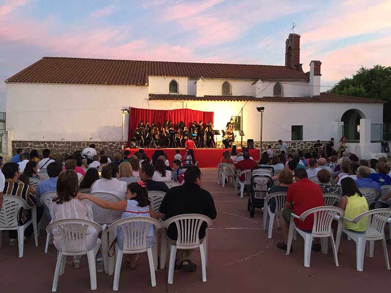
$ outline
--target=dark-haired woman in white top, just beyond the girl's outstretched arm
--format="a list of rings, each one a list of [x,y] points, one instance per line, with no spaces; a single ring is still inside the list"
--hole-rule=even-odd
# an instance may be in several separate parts
[[[119,168],[116,164],[110,163],[102,168],[102,179],[92,184],[91,192],[108,192],[115,194],[120,199],[125,199],[126,182],[119,181]]]

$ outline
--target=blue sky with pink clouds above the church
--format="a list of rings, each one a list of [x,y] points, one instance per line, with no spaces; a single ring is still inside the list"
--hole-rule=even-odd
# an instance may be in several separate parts
[[[304,71],[320,60],[332,85],[391,65],[390,13],[390,0],[0,0],[0,80],[43,56],[283,65],[294,21]]]

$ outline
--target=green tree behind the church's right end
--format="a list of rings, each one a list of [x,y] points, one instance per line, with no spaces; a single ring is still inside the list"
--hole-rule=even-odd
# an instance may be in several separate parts
[[[340,80],[327,93],[383,100],[383,121],[391,123],[391,67],[361,67],[351,78]]]

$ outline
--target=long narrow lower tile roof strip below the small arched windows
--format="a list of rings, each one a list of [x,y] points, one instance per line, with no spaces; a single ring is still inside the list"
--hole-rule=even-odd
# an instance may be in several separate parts
[[[150,94],[151,101],[249,101],[249,102],[271,102],[271,103],[384,103],[381,100],[373,100],[360,97],[321,93],[314,97],[262,97],[252,96],[204,96],[177,94]]]

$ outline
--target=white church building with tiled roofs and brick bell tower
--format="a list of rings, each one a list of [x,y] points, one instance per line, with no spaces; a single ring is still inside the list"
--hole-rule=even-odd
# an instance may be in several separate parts
[[[383,123],[383,101],[321,93],[322,63],[306,62],[304,73],[298,34],[286,40],[284,66],[43,57],[5,81],[8,145],[119,149],[121,109],[136,107],[213,111],[220,130],[234,117],[243,142],[259,146],[262,106],[263,147],[282,139],[296,150],[345,135],[351,152],[380,152],[371,124]]]

